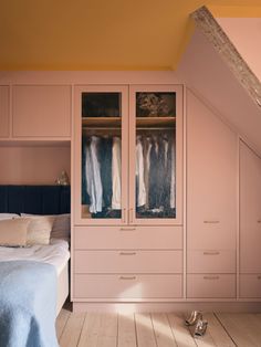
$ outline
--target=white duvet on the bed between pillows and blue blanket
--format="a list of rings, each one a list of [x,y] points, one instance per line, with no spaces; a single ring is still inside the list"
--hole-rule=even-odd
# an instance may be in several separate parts
[[[55,266],[58,274],[61,273],[69,259],[69,243],[60,239],[51,239],[48,245],[34,244],[28,248],[0,246],[0,262],[29,260],[49,263]]]

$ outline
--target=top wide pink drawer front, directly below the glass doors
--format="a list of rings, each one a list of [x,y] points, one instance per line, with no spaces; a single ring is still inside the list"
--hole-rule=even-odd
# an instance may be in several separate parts
[[[182,227],[74,227],[74,248],[181,249]]]

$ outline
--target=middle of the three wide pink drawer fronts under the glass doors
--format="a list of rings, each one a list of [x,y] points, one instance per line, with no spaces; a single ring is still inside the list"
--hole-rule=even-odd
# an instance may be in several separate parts
[[[181,273],[182,251],[75,251],[75,273]]]

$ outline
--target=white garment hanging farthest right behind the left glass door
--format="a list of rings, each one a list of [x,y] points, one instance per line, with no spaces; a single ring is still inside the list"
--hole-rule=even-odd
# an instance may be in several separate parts
[[[113,197],[112,209],[122,208],[122,141],[118,137],[113,137],[113,160],[112,160],[112,180]]]

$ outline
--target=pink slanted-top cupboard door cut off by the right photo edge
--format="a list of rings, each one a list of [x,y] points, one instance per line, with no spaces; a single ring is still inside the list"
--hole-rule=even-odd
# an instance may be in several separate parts
[[[261,158],[240,143],[240,273],[261,273]]]

